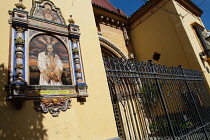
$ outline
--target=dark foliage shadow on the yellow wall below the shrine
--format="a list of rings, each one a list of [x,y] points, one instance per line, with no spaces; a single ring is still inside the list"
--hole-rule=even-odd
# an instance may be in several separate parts
[[[5,85],[8,84],[8,69],[0,64],[0,139],[2,140],[44,140],[47,130],[42,121],[43,114],[36,112],[33,100],[25,101],[23,109],[15,109],[6,101]]]

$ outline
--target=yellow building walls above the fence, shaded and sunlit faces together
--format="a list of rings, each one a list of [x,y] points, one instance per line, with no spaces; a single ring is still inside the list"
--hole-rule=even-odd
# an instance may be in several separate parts
[[[160,60],[153,62],[203,71],[210,83],[209,74],[199,57],[201,45],[191,27],[194,22],[203,25],[200,17],[175,0],[160,2],[131,25],[138,60],[152,59],[154,52],[158,52]],[[205,66],[208,64],[205,63]]]

